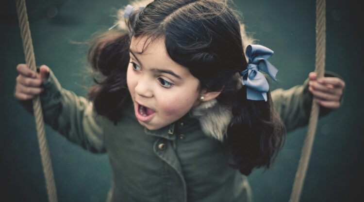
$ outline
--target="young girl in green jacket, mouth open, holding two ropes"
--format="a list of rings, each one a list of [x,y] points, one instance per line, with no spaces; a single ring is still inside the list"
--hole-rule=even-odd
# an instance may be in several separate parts
[[[249,202],[244,175],[268,168],[286,130],[307,124],[313,95],[320,116],[340,106],[342,79],[314,73],[270,93],[259,70],[275,80],[273,52],[247,46],[226,2],[155,0],[124,16],[128,31],[93,41],[89,61],[102,78],[88,99],[45,65],[35,74],[19,64],[15,89],[30,112],[40,94],[45,122],[68,140],[108,153],[110,202]]]

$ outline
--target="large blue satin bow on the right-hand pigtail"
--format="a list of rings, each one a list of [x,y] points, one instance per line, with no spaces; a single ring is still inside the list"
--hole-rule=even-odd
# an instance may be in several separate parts
[[[269,84],[259,70],[264,71],[278,82],[275,78],[278,69],[266,60],[273,55],[273,50],[261,45],[249,45],[245,54],[248,57],[248,68],[241,72],[241,77],[243,84],[248,87],[247,99],[267,101],[266,92],[269,90]],[[247,77],[245,77],[246,74],[248,74]]]

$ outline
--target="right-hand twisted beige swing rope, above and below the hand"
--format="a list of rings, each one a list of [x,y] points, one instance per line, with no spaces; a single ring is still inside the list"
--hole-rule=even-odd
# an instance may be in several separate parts
[[[317,78],[324,76],[325,72],[325,51],[326,51],[326,2],[325,0],[316,0],[316,55],[315,55],[315,72]],[[309,119],[306,138],[303,143],[301,158],[298,162],[295,182],[293,183],[291,198],[289,202],[298,202],[301,196],[303,182],[306,176],[309,164],[312,145],[314,143],[314,134],[318,121],[319,106],[314,98],[312,101],[311,116]]]

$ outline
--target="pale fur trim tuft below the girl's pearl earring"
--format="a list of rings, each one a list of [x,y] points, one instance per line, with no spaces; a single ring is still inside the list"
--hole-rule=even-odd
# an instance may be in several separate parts
[[[216,140],[223,141],[232,112],[226,106],[219,105],[216,99],[202,102],[192,110],[192,116],[199,119],[202,131]]]

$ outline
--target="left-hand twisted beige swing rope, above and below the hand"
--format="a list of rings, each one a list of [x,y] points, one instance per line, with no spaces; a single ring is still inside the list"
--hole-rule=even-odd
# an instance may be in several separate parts
[[[21,39],[23,41],[23,47],[25,53],[25,61],[27,65],[31,68],[31,70],[36,72],[34,50],[32,44],[32,37],[29,29],[25,0],[16,0],[16,4],[17,4],[17,16],[19,19],[19,27],[21,32]],[[48,143],[44,128],[43,113],[39,95],[35,96],[33,99],[33,110],[34,110],[35,124],[37,129],[40,156],[42,159],[43,171],[46,180],[48,200],[50,202],[57,202],[56,185],[54,182],[52,164],[50,161],[50,152],[48,149]]]

